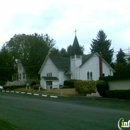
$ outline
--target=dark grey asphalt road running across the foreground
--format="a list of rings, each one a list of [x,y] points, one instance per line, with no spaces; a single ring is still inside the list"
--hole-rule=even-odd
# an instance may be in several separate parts
[[[130,119],[129,108],[122,109],[123,104],[109,108],[105,100],[98,103],[94,98],[52,99],[0,92],[0,120],[18,130],[118,130],[121,117]]]

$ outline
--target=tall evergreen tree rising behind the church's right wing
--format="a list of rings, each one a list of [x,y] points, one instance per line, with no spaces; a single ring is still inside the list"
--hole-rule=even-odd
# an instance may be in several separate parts
[[[91,43],[91,53],[102,53],[102,57],[108,62],[112,62],[113,49],[110,49],[111,40],[107,40],[107,35],[103,30],[99,30],[96,39],[92,40]]]

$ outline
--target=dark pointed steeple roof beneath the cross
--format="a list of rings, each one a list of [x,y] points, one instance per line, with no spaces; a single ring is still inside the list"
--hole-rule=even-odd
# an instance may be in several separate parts
[[[79,42],[77,37],[75,36],[73,46],[72,46],[72,51],[71,51],[71,56],[73,55],[82,55],[81,48],[79,46]]]

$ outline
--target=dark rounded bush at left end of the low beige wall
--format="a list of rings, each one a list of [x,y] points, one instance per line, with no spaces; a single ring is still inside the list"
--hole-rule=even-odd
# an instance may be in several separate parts
[[[100,96],[106,97],[106,91],[109,90],[108,83],[103,80],[100,80],[100,81],[97,81],[96,87]]]

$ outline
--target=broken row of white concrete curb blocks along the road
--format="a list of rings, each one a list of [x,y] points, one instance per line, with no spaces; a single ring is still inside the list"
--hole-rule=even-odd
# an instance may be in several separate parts
[[[1,92],[16,93],[16,94],[27,94],[27,95],[34,95],[34,96],[50,97],[50,98],[58,98],[58,96],[54,96],[54,95],[46,95],[46,94],[31,93],[31,92],[20,92],[20,91],[9,91],[9,90],[2,90]]]

